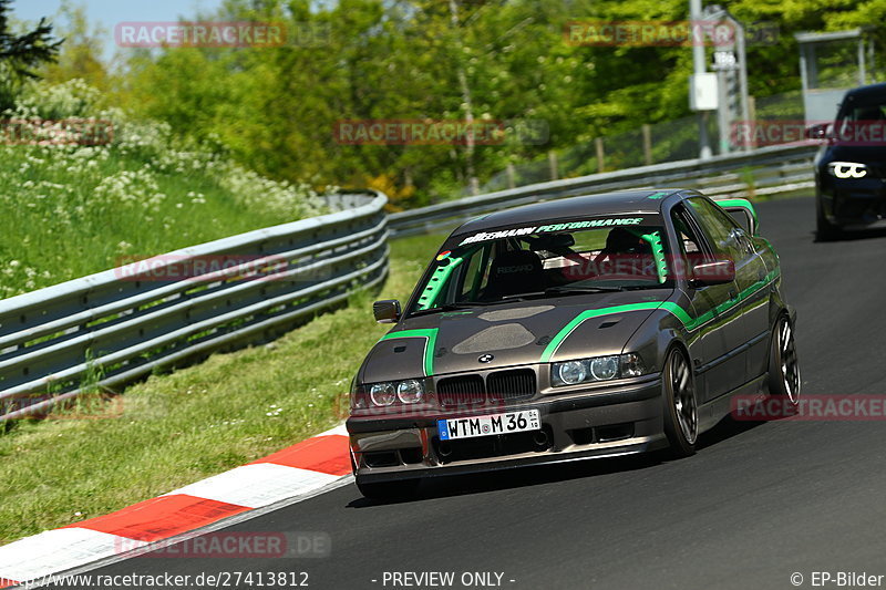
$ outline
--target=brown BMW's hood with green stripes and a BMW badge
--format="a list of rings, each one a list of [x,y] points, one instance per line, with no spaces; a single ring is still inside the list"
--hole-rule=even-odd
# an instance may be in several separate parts
[[[360,382],[619,354],[671,293],[568,296],[412,318],[370,351]]]

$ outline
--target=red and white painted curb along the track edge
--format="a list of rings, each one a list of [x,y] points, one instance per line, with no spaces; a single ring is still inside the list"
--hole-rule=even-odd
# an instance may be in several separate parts
[[[0,547],[0,588],[39,580],[225,518],[315,495],[351,473],[337,426],[258,460],[110,515]]]

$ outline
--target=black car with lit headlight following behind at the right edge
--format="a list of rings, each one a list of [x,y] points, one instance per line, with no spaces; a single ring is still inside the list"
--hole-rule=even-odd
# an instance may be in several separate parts
[[[815,157],[817,238],[886,227],[886,84],[847,92],[836,121],[810,137],[826,139]]]

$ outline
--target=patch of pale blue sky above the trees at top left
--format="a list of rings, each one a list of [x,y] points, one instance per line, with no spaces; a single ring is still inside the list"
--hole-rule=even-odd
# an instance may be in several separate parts
[[[114,25],[132,21],[176,21],[222,6],[223,0],[72,0],[74,6],[85,6],[90,25],[101,22],[107,30],[105,58],[114,53]],[[12,13],[19,20],[37,21],[53,17],[61,0],[16,0]],[[63,24],[63,23],[60,23]]]

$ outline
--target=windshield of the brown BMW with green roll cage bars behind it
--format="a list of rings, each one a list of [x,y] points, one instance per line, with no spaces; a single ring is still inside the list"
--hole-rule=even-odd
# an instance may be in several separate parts
[[[555,226],[542,226],[547,227]],[[666,232],[660,226],[522,236],[514,232],[480,234],[482,240],[476,236],[466,238],[451,250],[441,251],[420,286],[411,312],[559,294],[655,289],[667,287],[672,280]],[[499,234],[508,237],[483,239]]]

